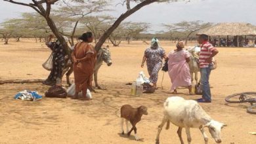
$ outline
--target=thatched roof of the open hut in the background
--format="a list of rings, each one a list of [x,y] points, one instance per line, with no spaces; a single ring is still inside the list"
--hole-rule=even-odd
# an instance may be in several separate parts
[[[197,35],[200,34],[210,36],[256,35],[256,27],[246,23],[220,23],[201,29]]]

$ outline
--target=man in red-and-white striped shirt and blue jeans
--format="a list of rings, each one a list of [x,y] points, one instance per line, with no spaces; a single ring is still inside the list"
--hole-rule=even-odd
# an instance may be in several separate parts
[[[203,96],[198,99],[200,103],[211,103],[211,90],[209,85],[209,76],[211,74],[211,63],[213,57],[219,53],[219,51],[208,42],[208,35],[199,35],[198,43],[201,45],[201,51],[199,53],[199,64],[201,71],[201,84]]]

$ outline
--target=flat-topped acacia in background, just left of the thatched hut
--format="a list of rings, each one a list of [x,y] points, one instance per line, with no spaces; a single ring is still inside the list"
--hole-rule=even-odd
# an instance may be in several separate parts
[[[212,26],[212,23],[210,22],[205,23],[200,20],[196,20],[192,22],[182,21],[176,24],[163,24],[163,26],[167,27],[167,29],[169,29],[169,32],[172,32],[172,31],[186,32],[187,31],[188,34],[186,35],[186,41],[185,41],[185,45],[187,45],[188,39],[192,33],[199,31],[200,29],[203,29],[205,27]]]

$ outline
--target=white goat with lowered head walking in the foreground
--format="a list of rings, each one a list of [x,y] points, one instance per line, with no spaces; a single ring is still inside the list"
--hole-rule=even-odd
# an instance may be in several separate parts
[[[208,137],[203,130],[205,127],[209,128],[209,132],[215,139],[216,143],[221,143],[221,129],[226,126],[226,124],[217,122],[209,117],[209,115],[203,111],[198,102],[194,100],[185,100],[178,96],[173,96],[166,99],[165,103],[163,103],[163,107],[164,117],[160,126],[158,126],[156,144],[160,143],[160,133],[166,122],[167,130],[169,129],[170,122],[176,126],[179,126],[177,133],[179,135],[181,144],[184,144],[184,141],[181,137],[182,128],[186,129],[188,144],[191,143],[190,128],[199,128],[203,134],[206,144],[208,142]]]

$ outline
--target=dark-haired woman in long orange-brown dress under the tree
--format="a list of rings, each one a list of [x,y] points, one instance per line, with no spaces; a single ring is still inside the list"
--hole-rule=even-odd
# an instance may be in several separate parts
[[[95,67],[96,51],[89,43],[93,42],[93,33],[83,33],[79,37],[81,42],[75,44],[72,52],[74,62],[74,77],[75,77],[75,96],[73,99],[78,99],[78,93],[82,91],[82,100],[90,100],[86,97],[87,88],[91,86],[93,77],[93,69]]]

